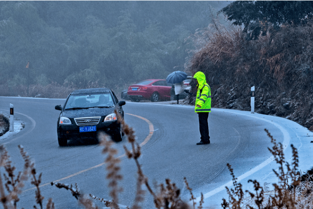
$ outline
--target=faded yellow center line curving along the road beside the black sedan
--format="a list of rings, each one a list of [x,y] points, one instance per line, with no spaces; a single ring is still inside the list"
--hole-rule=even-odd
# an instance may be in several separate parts
[[[136,116],[136,115],[129,114],[129,113],[126,113],[126,114],[127,114],[127,115],[130,115],[130,116],[138,117],[138,118],[140,118],[140,119],[143,119],[145,122],[148,123],[148,125],[149,125],[149,135],[148,135],[148,136],[144,139],[144,141],[141,142],[141,144],[140,144],[140,146],[144,146],[144,144],[146,144],[146,143],[150,140],[150,138],[152,137],[152,135],[153,135],[153,131],[154,131],[153,124],[152,124],[148,119],[146,119],[146,118],[144,118],[144,117],[142,117],[142,116]],[[122,154],[122,155],[120,155],[118,158],[122,158],[122,157],[124,157],[124,156],[126,156],[125,153]],[[104,164],[105,164],[105,163],[100,163],[100,164],[98,164],[98,165],[95,165],[95,166],[93,166],[93,167],[87,168],[87,169],[85,169],[85,170],[78,171],[77,173],[74,173],[74,174],[72,174],[72,175],[66,176],[66,177],[64,177],[64,178],[62,178],[62,179],[55,180],[55,181],[53,181],[53,182],[60,182],[60,181],[63,181],[63,180],[65,180],[65,179],[72,178],[72,177],[77,176],[77,175],[79,175],[79,174],[81,174],[81,173],[85,173],[85,172],[90,171],[90,170],[92,170],[92,169],[101,167],[101,166],[104,165]],[[44,184],[44,185],[40,185],[39,187],[47,186],[47,185],[50,185],[50,184],[51,184],[51,183],[46,183],[46,184]],[[26,189],[26,190],[24,190],[24,192],[29,191],[29,190],[33,190],[33,189],[36,189],[36,187]]]

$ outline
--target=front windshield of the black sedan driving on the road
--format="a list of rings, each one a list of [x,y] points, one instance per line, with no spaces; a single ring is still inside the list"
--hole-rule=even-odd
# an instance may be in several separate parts
[[[114,102],[110,93],[73,94],[65,104],[65,109],[84,109],[112,107]]]

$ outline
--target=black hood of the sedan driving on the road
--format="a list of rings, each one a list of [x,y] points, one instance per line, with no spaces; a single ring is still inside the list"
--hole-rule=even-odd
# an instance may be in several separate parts
[[[115,108],[89,108],[77,110],[64,110],[62,116],[69,118],[107,116],[111,113],[114,113],[114,110]]]

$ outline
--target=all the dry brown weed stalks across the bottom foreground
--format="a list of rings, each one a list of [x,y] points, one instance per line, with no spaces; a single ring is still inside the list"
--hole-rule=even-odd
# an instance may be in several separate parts
[[[122,124],[122,129],[128,142],[131,144],[131,150],[128,150],[124,146],[125,154],[129,159],[135,161],[138,174],[137,187],[134,188],[136,190],[134,204],[127,208],[142,209],[140,203],[144,201],[145,196],[142,186],[146,186],[147,191],[154,199],[156,209],[203,209],[203,195],[201,194],[201,201],[197,205],[194,202],[195,197],[193,196],[192,188],[189,187],[186,178],[184,178],[184,181],[191,195],[190,201],[193,201],[192,206],[181,199],[180,189],[169,179],[165,180],[165,184],[159,184],[156,188],[157,190],[153,191],[138,161],[141,156],[141,147],[135,140],[135,132],[121,119],[120,115],[118,115],[118,120]],[[270,191],[266,186],[264,188],[260,186],[257,180],[249,180],[248,182],[253,184],[254,190],[243,191],[241,183],[237,182],[231,165],[227,164],[233,178],[234,188],[226,187],[229,201],[223,199],[222,207],[224,209],[313,209],[313,168],[306,174],[300,175],[296,148],[291,145],[292,163],[289,164],[285,159],[282,144],[277,143],[268,131],[265,131],[273,144],[273,147],[268,148],[268,150],[278,164],[278,171],[273,170],[278,178],[278,184],[273,184],[274,190]],[[72,196],[85,209],[101,208],[96,206],[93,200],[102,203],[102,205],[110,209],[120,209],[118,195],[122,191],[122,187],[119,186],[122,176],[120,175],[120,159],[116,157],[118,151],[112,147],[114,142],[109,136],[101,134],[99,141],[100,145],[103,146],[102,153],[106,156],[104,162],[106,165],[105,169],[107,170],[106,178],[109,180],[107,187],[110,188],[112,200],[105,200],[92,194],[84,194],[78,189],[77,184],[72,186],[52,182],[51,186],[69,190]],[[31,184],[36,187],[34,198],[37,205],[33,206],[33,208],[37,209],[38,207],[43,209],[44,197],[40,192],[42,174],[38,177],[36,176],[34,163],[22,146],[19,146],[19,149],[24,160],[24,169],[16,175],[16,168],[11,165],[12,162],[10,161],[8,152],[3,145],[0,146],[0,168],[3,167],[5,171],[3,174],[0,172],[0,202],[3,209],[17,209],[18,202],[20,201],[19,195],[22,193],[24,182],[30,178]],[[289,184],[289,182],[291,183]],[[48,199],[46,209],[54,209],[54,203],[51,198]]]

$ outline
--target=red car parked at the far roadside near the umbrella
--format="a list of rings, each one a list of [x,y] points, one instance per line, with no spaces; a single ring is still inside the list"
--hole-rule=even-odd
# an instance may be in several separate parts
[[[149,79],[130,85],[127,96],[131,101],[139,102],[141,99],[149,99],[152,102],[170,100],[171,84],[166,80]]]

